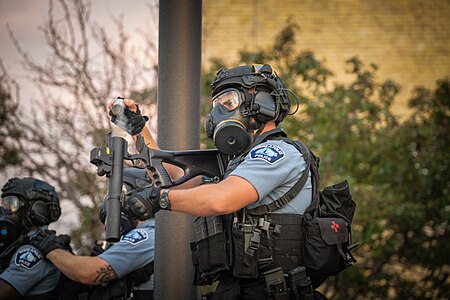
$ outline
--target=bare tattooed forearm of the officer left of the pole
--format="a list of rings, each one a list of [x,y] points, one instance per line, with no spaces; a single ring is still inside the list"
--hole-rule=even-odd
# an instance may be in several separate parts
[[[102,284],[117,278],[111,265],[97,256],[75,256],[56,249],[47,258],[67,277],[83,284]]]

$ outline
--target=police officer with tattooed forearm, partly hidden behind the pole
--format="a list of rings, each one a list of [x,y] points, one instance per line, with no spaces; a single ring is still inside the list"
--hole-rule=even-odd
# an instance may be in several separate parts
[[[125,168],[123,174],[125,192],[150,184],[145,170]],[[103,207],[99,215],[104,222]],[[95,256],[60,249],[57,236],[48,231],[40,231],[31,243],[68,278],[91,286],[75,299],[153,299],[154,237],[154,219],[136,221],[122,213],[120,241],[98,243]]]

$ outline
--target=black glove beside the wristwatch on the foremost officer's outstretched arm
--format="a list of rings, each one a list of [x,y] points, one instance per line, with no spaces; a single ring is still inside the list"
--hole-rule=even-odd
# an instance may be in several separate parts
[[[145,187],[132,190],[125,196],[123,210],[126,215],[141,221],[153,218],[160,210],[159,188]]]

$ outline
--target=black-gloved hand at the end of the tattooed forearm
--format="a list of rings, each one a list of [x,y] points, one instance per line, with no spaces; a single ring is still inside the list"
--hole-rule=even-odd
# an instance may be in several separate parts
[[[70,249],[70,237],[68,235],[56,235],[53,230],[39,230],[37,235],[31,238],[30,244],[36,247],[44,256],[55,249]]]

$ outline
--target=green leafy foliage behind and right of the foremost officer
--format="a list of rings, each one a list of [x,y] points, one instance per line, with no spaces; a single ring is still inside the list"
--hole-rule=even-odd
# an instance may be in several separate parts
[[[358,263],[322,291],[332,299],[447,299],[449,79],[434,91],[415,89],[411,117],[400,122],[390,111],[397,83],[380,81],[376,65],[354,57],[346,62],[350,82],[331,85],[322,61],[295,50],[296,30],[289,23],[272,47],[241,51],[239,64],[270,63],[278,71],[300,102],[282,127],[320,156],[322,187],[344,178],[351,184]],[[204,86],[215,72],[207,74]]]

